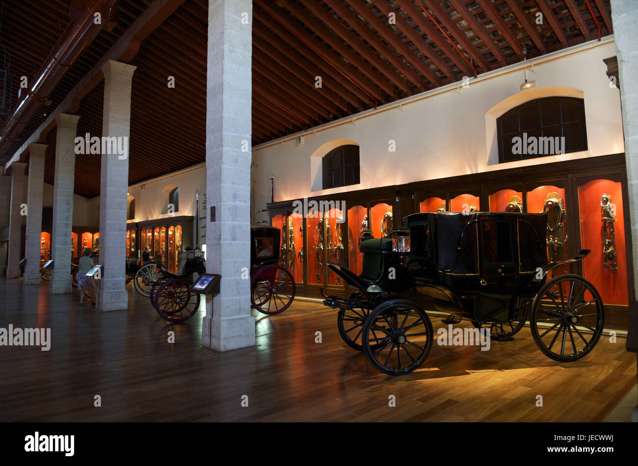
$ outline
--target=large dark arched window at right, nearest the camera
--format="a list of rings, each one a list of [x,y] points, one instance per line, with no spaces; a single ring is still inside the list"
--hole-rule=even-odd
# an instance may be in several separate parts
[[[545,97],[496,119],[499,163],[587,150],[583,99]]]

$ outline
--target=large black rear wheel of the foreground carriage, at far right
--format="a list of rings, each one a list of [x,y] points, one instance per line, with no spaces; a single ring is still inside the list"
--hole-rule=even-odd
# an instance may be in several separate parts
[[[589,353],[604,321],[598,291],[579,275],[549,280],[531,305],[531,336],[540,351],[556,361],[575,361]]]

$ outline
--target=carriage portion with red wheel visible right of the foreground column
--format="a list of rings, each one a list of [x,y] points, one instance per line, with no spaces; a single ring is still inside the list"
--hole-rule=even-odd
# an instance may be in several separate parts
[[[263,314],[279,314],[295,298],[295,280],[279,265],[291,251],[281,250],[281,230],[274,226],[251,226],[250,242],[251,305]]]

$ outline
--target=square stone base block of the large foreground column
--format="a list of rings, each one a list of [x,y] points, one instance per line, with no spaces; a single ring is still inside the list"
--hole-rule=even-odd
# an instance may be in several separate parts
[[[202,346],[216,351],[255,346],[255,317],[237,316],[202,319]]]

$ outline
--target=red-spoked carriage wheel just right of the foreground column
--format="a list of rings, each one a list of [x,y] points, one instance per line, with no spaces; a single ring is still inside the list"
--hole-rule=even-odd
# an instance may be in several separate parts
[[[295,280],[285,268],[267,265],[256,270],[250,290],[253,307],[272,316],[288,309],[295,299]]]

